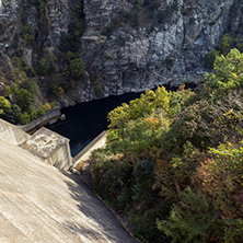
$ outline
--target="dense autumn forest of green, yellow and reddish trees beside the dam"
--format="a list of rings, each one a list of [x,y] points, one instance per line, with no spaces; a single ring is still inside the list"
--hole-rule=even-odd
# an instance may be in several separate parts
[[[243,242],[243,54],[195,91],[164,86],[108,114],[92,187],[141,242]]]

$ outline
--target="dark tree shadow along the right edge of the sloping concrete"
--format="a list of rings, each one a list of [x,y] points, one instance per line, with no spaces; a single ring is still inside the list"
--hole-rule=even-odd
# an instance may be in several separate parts
[[[63,227],[77,235],[93,239],[91,242],[137,243],[111,210],[92,193],[79,175],[61,173],[73,181],[66,181],[77,207],[88,220],[82,225],[65,222]],[[92,224],[92,227],[89,225]],[[85,227],[89,225],[89,227]]]

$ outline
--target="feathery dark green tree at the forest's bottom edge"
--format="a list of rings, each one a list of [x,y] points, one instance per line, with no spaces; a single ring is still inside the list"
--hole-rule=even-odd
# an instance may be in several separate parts
[[[206,243],[215,230],[215,217],[207,200],[195,194],[189,187],[181,193],[181,204],[174,205],[167,220],[158,220],[158,228],[172,243]]]

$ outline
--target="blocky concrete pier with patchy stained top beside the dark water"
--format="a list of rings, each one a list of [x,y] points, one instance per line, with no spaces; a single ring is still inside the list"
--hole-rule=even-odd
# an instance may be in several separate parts
[[[67,170],[72,164],[69,139],[47,128],[37,130],[22,147],[58,169]]]

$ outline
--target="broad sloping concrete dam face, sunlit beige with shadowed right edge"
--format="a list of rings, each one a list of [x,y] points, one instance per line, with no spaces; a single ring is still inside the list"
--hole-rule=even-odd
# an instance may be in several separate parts
[[[79,176],[0,141],[1,243],[135,243]]]

